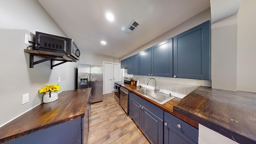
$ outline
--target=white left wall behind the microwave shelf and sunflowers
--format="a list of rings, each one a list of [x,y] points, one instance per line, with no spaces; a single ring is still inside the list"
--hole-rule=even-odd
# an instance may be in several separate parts
[[[50,61],[29,68],[24,53],[24,33],[36,31],[66,36],[37,0],[0,1],[0,126],[42,102],[38,90],[45,84],[58,83],[64,90],[74,89],[76,62],[67,62],[50,70]],[[42,59],[35,57],[35,60]],[[57,62],[56,62],[57,63]],[[22,94],[29,102],[22,105]]]

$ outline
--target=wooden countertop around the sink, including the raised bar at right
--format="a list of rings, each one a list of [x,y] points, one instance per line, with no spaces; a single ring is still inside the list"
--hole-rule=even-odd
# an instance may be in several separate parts
[[[241,144],[256,144],[256,93],[199,86],[184,98],[158,104],[122,85],[134,94],[198,128],[198,123]],[[143,88],[143,87],[142,87]]]

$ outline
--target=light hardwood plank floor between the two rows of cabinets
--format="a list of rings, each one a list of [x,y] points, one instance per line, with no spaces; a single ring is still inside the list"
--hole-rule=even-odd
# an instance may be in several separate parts
[[[92,104],[88,144],[150,144],[124,110],[114,93]]]

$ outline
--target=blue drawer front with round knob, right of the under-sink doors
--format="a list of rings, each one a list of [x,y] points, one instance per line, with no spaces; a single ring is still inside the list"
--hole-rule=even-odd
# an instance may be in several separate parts
[[[168,122],[171,126],[176,128],[176,130],[180,131],[182,134],[186,135],[188,138],[198,143],[198,129],[190,126],[186,122],[183,122],[182,120],[176,118],[168,112],[164,112],[164,120]],[[180,128],[178,127],[178,125],[180,125]]]

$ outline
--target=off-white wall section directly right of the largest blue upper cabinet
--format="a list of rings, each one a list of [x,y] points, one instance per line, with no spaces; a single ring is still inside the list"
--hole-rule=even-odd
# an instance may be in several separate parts
[[[237,15],[212,24],[212,88],[236,91]]]

